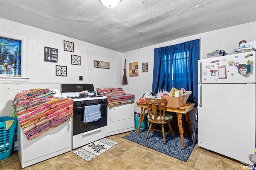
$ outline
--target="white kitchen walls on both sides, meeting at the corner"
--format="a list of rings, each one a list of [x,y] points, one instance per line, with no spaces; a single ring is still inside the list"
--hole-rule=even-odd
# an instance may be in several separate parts
[[[15,94],[18,89],[30,88],[60,88],[62,83],[90,83],[88,81],[88,51],[96,51],[97,53],[116,58],[116,87],[122,86],[122,76],[124,74],[124,59],[126,59],[126,76],[128,84],[122,86],[124,91],[128,94],[135,94],[135,102],[142,97],[146,92],[152,92],[152,72],[154,49],[158,47],[165,47],[168,45],[175,45],[178,43],[190,41],[193,39],[200,39],[201,42],[201,57],[206,58],[208,53],[216,49],[225,50],[227,52],[238,47],[241,40],[247,42],[256,41],[256,22],[237,25],[225,29],[184,37],[150,47],[129,51],[126,53],[119,53],[72,39],[63,35],[30,27],[13,21],[8,21],[0,18],[0,30],[9,31],[16,34],[25,35],[28,37],[28,82],[17,81],[2,81],[0,78],[0,116],[12,115],[13,107],[11,106]],[[63,50],[63,41],[74,42],[74,53]],[[58,49],[58,63],[44,62],[44,47],[52,47]],[[81,66],[71,64],[71,54],[81,56]],[[129,77],[128,64],[138,61],[139,76]],[[142,73],[142,63],[148,63],[148,72]],[[68,76],[55,76],[55,65],[63,65],[68,67]],[[78,76],[83,76],[83,81],[78,80]],[[98,75],[97,78],[102,79],[102,87],[104,77]],[[140,108],[134,105],[135,111],[140,112]]]

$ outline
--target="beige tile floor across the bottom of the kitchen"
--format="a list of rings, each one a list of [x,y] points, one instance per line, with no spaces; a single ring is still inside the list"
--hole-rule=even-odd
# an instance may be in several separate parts
[[[243,170],[243,164],[196,145],[187,162],[128,141],[130,132],[107,137],[118,145],[90,162],[72,151],[24,168],[24,170]],[[17,152],[0,160],[0,170],[21,170]]]

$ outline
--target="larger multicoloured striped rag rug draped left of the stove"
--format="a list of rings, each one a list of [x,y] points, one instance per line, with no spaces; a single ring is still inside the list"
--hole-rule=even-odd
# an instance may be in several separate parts
[[[19,92],[13,107],[28,140],[57,127],[73,115],[73,100],[56,98],[49,89]]]

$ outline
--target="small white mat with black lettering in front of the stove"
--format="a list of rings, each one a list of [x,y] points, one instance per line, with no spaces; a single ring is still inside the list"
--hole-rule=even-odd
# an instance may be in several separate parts
[[[84,160],[90,161],[100,154],[106,152],[108,149],[114,147],[117,142],[111,141],[110,139],[102,138],[98,141],[89,143],[88,145],[73,151],[74,154],[83,158]]]

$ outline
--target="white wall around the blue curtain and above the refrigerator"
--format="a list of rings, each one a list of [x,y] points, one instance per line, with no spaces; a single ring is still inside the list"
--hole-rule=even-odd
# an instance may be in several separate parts
[[[200,39],[202,59],[205,59],[208,53],[211,53],[217,49],[225,50],[229,53],[233,49],[239,47],[239,42],[241,40],[246,40],[247,42],[256,41],[256,22],[219,29],[190,37],[184,37],[123,53],[123,62],[124,59],[126,59],[126,66],[128,66],[129,63],[138,61],[139,68],[139,76],[129,77],[129,74],[127,74],[128,84],[123,86],[124,91],[126,93],[135,94],[136,102],[139,101],[144,93],[152,92],[154,49],[175,45],[194,39]],[[142,72],[142,63],[148,63],[148,72]],[[136,107],[136,104],[134,106],[134,111],[139,113],[140,108]],[[194,112],[191,111],[191,113]]]

